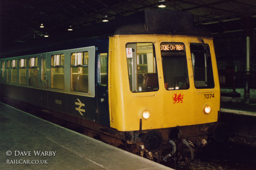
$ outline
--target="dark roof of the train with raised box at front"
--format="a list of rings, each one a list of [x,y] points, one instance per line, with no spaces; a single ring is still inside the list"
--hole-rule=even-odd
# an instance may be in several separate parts
[[[212,37],[211,33],[193,24],[190,12],[145,10],[109,22],[94,24],[65,35],[42,37],[35,42],[1,50],[2,58],[83,47],[85,39],[95,41],[114,35],[170,34]],[[90,39],[90,40],[89,40]]]

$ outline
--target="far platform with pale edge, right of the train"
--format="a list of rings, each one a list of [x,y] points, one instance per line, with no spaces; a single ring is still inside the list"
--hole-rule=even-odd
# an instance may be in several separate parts
[[[256,116],[256,100],[250,99],[249,104],[245,104],[243,100],[240,102],[221,101],[220,112]]]

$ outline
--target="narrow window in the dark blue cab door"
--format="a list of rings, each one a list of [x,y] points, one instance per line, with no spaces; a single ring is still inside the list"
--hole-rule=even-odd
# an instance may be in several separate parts
[[[106,86],[108,84],[108,53],[100,53],[98,61],[98,83]]]

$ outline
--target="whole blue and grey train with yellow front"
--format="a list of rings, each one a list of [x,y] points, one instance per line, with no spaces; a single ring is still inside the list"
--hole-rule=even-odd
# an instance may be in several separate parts
[[[145,10],[2,52],[1,99],[134,144],[141,156],[194,158],[228,137],[211,34],[189,12]]]

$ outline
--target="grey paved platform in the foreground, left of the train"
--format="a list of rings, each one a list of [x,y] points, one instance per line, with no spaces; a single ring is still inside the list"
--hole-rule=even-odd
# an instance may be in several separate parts
[[[0,131],[0,169],[171,169],[3,103]]]

